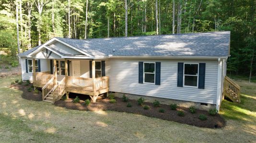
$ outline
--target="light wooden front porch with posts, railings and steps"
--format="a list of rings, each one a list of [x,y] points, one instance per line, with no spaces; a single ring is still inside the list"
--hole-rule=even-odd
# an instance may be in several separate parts
[[[90,61],[90,70],[92,72],[89,72],[91,72],[92,78],[69,76],[68,70],[70,70],[70,67],[68,62],[69,60],[65,59],[65,75],[59,75],[57,72],[61,71],[59,70],[60,68],[58,68],[59,63],[57,64],[56,59],[53,59],[52,71],[44,72],[35,72],[35,59],[33,59],[33,85],[34,87],[42,88],[43,101],[54,103],[60,100],[64,94],[69,98],[69,93],[73,92],[89,95],[92,102],[96,102],[99,94],[108,93],[109,77],[102,76],[95,78],[94,60]],[[51,74],[51,72],[53,74]]]

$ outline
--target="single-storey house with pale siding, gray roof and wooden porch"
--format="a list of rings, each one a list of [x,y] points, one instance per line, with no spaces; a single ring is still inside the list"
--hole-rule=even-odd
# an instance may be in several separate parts
[[[214,105],[219,110],[230,31],[96,39],[53,38],[19,56],[23,80],[43,100],[70,92],[121,92]],[[228,88],[231,85],[227,86]]]

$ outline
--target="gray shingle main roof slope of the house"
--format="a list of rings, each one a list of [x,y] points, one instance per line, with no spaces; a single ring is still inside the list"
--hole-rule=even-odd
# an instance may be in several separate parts
[[[58,39],[93,56],[229,56],[230,31],[86,40]]]

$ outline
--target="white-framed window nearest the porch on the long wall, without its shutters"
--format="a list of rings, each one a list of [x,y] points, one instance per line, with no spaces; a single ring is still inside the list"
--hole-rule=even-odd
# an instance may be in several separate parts
[[[144,82],[155,83],[155,63],[144,62]]]

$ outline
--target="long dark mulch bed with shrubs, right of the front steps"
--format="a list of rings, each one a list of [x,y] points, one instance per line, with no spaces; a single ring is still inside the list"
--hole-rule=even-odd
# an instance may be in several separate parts
[[[128,112],[141,114],[148,117],[159,118],[168,121],[174,121],[178,123],[186,123],[189,125],[194,125],[198,127],[206,127],[206,128],[221,128],[225,126],[225,120],[219,115],[210,116],[207,111],[197,110],[196,113],[192,114],[189,112],[187,108],[178,107],[177,111],[183,111],[185,113],[184,117],[180,117],[177,115],[177,111],[170,110],[169,105],[161,104],[160,107],[153,107],[153,104],[150,102],[145,102],[144,105],[150,106],[149,110],[144,110],[143,106],[138,105],[136,100],[128,100],[132,104],[132,107],[127,107],[128,102],[122,102],[121,98],[117,98],[116,103],[109,103],[108,98],[104,98],[103,96],[97,99],[97,102],[91,103],[90,105],[84,105],[84,101],[79,103],[73,103],[72,99],[68,100],[60,100],[55,102],[55,105],[60,107],[66,107],[68,109],[73,110],[85,110],[85,111],[98,111],[98,110],[111,110],[117,112]],[[160,113],[159,109],[163,108],[165,110],[164,113]],[[198,119],[200,114],[207,115],[206,121],[201,121]]]

